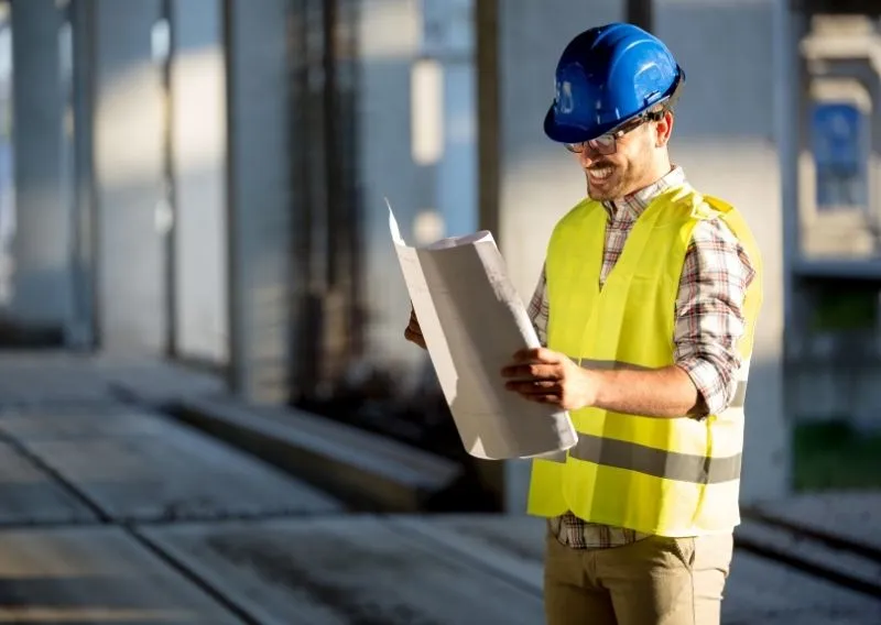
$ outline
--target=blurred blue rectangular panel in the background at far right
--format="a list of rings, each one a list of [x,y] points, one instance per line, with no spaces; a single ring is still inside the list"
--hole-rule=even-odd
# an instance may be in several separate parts
[[[862,113],[849,103],[814,106],[813,147],[818,169],[857,174],[864,163]]]

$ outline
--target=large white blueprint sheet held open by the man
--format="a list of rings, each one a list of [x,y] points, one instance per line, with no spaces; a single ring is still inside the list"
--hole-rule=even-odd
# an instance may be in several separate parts
[[[389,227],[428,354],[465,449],[502,460],[555,454],[575,445],[568,413],[504,387],[515,351],[539,347],[523,301],[487,231],[407,246]]]

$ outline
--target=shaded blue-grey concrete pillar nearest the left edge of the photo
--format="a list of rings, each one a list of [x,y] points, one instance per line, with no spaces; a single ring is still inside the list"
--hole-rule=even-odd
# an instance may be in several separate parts
[[[22,324],[66,330],[73,314],[72,196],[63,151],[62,22],[53,0],[13,6],[17,232],[11,311]]]

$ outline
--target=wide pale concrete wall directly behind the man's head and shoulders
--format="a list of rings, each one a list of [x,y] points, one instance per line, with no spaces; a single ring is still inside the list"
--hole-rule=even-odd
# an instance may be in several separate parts
[[[531,296],[556,220],[585,194],[584,176],[548,142],[542,120],[566,42],[581,30],[623,19],[620,2],[500,2],[500,233],[512,277]],[[688,84],[672,153],[705,193],[735,204],[763,252],[765,304],[758,327],[748,394],[746,501],[787,489],[787,435],[782,402],[782,199],[775,80],[781,14],[772,0],[728,0],[708,7],[655,2],[655,32],[684,66]],[[529,468],[508,467],[507,506],[525,505]]]

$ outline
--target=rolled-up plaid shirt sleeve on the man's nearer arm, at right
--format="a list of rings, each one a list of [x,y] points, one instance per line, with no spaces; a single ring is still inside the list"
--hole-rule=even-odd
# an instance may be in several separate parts
[[[698,223],[685,254],[673,338],[675,362],[703,399],[697,417],[731,403],[741,365],[743,300],[754,277],[746,250],[721,219]]]

